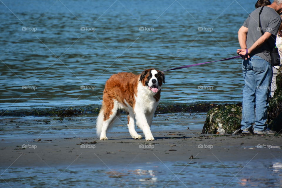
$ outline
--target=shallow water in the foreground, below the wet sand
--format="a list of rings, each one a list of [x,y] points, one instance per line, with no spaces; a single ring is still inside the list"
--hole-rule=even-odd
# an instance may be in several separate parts
[[[1,187],[281,187],[280,162],[0,168]]]

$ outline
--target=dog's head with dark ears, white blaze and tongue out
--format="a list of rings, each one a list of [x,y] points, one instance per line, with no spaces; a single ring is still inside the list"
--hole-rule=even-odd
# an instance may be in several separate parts
[[[161,89],[162,83],[165,83],[164,73],[154,68],[146,69],[141,73],[139,81],[153,93],[157,93]]]

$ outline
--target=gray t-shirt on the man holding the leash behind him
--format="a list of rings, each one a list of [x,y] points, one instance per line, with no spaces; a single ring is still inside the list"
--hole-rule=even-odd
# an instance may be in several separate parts
[[[243,26],[248,28],[247,34],[247,48],[250,48],[261,36],[262,33],[259,28],[259,12],[262,7],[255,9],[249,17],[245,20]],[[261,12],[261,28],[263,33],[271,33],[271,37],[264,42],[261,47],[257,48],[251,53],[251,56],[257,55],[264,60],[271,63],[270,51],[275,46],[276,34],[281,24],[281,17],[272,8],[265,6]]]

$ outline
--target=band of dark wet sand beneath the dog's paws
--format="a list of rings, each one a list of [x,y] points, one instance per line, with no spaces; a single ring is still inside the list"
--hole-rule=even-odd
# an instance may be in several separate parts
[[[281,160],[281,135],[203,135],[200,132],[191,129],[153,132],[154,141],[134,140],[125,132],[111,133],[109,140],[87,135],[64,138],[48,135],[41,140],[33,140],[34,136],[30,135],[6,137],[0,142],[0,167]],[[26,149],[22,148],[23,144]]]

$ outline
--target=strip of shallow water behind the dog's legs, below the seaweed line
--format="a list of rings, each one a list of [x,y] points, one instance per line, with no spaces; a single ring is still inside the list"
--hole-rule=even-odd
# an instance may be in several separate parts
[[[9,142],[9,139],[26,137],[31,138],[54,138],[65,137],[95,137],[95,123],[97,115],[82,115],[79,117],[65,117],[62,121],[58,117],[1,117],[0,136]],[[156,132],[154,136],[162,131],[181,132],[187,130],[202,130],[206,119],[206,113],[174,113],[155,115],[151,130]],[[12,122],[10,122],[12,121]],[[139,128],[136,131],[140,132]],[[128,133],[127,115],[120,116],[120,122],[113,126],[109,136],[119,133]],[[129,135],[128,135],[129,136]]]

